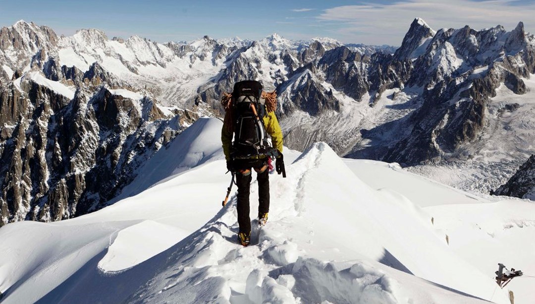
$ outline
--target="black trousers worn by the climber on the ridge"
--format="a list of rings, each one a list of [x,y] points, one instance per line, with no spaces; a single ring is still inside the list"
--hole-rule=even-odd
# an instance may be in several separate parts
[[[251,168],[257,173],[258,214],[269,212],[269,169],[266,159],[236,159],[234,167],[238,185],[238,224],[240,232],[249,234],[251,232],[249,190],[253,179]]]

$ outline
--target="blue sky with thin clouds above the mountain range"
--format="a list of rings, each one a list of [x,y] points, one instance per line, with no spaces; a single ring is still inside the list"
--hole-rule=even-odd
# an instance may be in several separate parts
[[[532,16],[535,0],[0,0],[0,26],[24,19],[48,25],[58,34],[98,28],[109,37],[138,35],[158,42],[203,35],[261,39],[278,33],[288,39],[328,36],[345,43],[400,45],[416,17],[435,30],[498,24],[513,29],[523,21],[533,33]]]

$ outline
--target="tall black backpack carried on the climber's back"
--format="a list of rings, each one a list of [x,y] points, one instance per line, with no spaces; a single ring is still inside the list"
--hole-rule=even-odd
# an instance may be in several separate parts
[[[272,155],[267,140],[263,117],[262,84],[244,80],[234,84],[232,92],[234,111],[234,157],[250,158],[255,155]]]

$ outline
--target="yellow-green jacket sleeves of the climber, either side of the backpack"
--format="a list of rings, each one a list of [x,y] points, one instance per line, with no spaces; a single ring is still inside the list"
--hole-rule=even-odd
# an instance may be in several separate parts
[[[227,127],[227,124],[232,123],[232,121],[230,121],[230,111],[231,110],[228,110],[225,113],[225,121],[223,124],[223,128],[221,129],[221,142],[223,143],[223,153],[225,153],[225,158],[227,161],[230,161],[231,159],[232,136],[234,135],[232,128]],[[282,153],[282,131],[280,130],[279,121],[277,120],[277,116],[275,116],[275,112],[268,112],[268,115],[264,116],[262,120],[264,121],[266,133],[271,136],[271,142],[273,143],[273,147]]]

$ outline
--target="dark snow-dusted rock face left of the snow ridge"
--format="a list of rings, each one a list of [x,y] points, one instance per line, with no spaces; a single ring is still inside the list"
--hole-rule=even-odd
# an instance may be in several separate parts
[[[73,100],[33,81],[0,100],[0,225],[58,221],[95,211],[197,117],[165,116],[144,98],[101,88]]]

